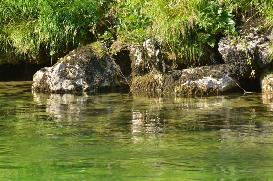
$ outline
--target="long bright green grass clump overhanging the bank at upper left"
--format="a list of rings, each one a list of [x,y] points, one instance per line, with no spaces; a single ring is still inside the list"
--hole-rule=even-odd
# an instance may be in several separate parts
[[[2,53],[36,59],[53,56],[88,39],[99,20],[102,3],[96,0],[3,0],[0,3]]]

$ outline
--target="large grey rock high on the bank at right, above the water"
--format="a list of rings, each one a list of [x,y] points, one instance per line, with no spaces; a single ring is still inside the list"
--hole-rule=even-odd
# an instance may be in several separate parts
[[[242,39],[245,39],[247,50],[252,57],[252,67],[255,75],[259,75],[262,67],[268,67],[271,61],[273,34],[271,30],[259,30],[257,25],[264,24],[263,20],[253,19],[241,24],[237,31]],[[223,37],[219,42],[219,52],[222,55],[229,71],[235,73],[239,78],[246,78],[251,75],[251,67],[247,65],[247,55],[243,50],[243,42],[237,42],[230,46],[232,40]],[[253,52],[253,54],[252,54]],[[254,56],[254,59],[253,59]]]

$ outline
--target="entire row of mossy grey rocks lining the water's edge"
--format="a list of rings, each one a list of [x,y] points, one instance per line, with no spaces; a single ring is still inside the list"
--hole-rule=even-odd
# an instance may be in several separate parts
[[[257,20],[256,20],[257,21]],[[131,46],[131,91],[166,94],[214,95],[235,89],[251,75],[248,55],[262,92],[273,93],[272,61],[273,34],[243,23],[237,27],[243,41],[222,37],[218,51],[224,63],[177,70],[169,52],[149,38],[142,46]],[[244,44],[247,47],[244,47]],[[122,61],[119,61],[122,62]],[[52,67],[40,69],[34,77],[33,91],[88,92],[120,87],[120,68],[99,42],[75,49]]]

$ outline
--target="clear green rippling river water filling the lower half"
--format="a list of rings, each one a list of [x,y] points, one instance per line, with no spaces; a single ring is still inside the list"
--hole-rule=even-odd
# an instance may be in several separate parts
[[[0,83],[0,180],[273,180],[273,95],[40,94]]]

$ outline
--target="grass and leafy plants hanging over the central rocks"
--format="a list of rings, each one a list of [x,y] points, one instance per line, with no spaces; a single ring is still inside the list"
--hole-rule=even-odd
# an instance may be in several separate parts
[[[115,27],[122,42],[141,45],[153,36],[180,63],[192,65],[206,59],[219,34],[235,31],[232,10],[218,1],[137,1],[120,6]]]

